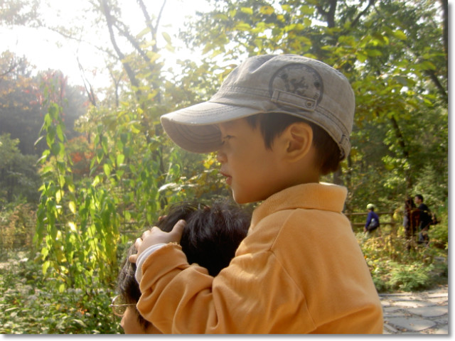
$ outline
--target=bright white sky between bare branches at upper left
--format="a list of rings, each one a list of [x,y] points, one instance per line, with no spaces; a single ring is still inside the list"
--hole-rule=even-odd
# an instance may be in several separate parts
[[[90,11],[84,9],[87,6],[87,1],[42,0],[41,2],[44,5],[42,13],[45,22],[49,24],[70,27],[73,22],[76,22],[78,24],[83,23],[85,28],[92,25],[93,16]],[[142,31],[144,20],[137,2],[134,0],[119,2],[125,5],[122,15],[132,33]],[[144,2],[148,6],[149,13],[159,13],[162,0]],[[46,6],[45,3],[49,3],[49,6]],[[205,0],[167,0],[161,18],[162,30],[173,36],[178,32],[178,28],[182,27],[186,16],[195,13],[196,9],[200,11],[206,6]],[[104,34],[93,34],[87,39],[111,46],[107,28]],[[159,33],[158,43],[160,46],[165,45],[161,33]],[[178,41],[173,40],[173,43],[178,44]],[[47,28],[0,27],[0,53],[4,50],[11,50],[19,56],[25,55],[28,62],[36,66],[37,71],[48,69],[63,71],[63,74],[68,76],[69,83],[73,85],[82,85],[77,64],[77,58],[79,58],[80,63],[87,70],[85,77],[95,88],[105,87],[109,84],[108,75],[102,72],[105,60],[101,53],[87,43],[75,43],[75,41],[66,40]],[[172,66],[178,55],[170,52],[164,53],[163,58],[166,65]],[[184,53],[185,57],[189,58],[190,52],[186,50]],[[197,53],[194,58],[198,58]]]

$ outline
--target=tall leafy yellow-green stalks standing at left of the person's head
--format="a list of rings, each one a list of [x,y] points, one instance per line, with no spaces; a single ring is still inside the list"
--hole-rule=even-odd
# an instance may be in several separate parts
[[[100,177],[75,191],[63,131],[60,107],[51,104],[43,124],[49,149],[40,159],[43,185],[33,241],[41,248],[43,273],[58,278],[60,292],[112,283],[119,241],[115,198],[96,188]],[[98,155],[102,157],[102,149]]]

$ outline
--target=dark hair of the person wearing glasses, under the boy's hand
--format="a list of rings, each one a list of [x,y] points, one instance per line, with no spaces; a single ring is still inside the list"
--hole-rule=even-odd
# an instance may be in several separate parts
[[[171,231],[178,220],[186,220],[181,247],[189,264],[199,264],[216,276],[229,265],[242,239],[247,236],[251,216],[237,205],[228,202],[214,202],[206,206],[194,202],[181,202],[172,205],[167,215],[156,223],[165,232]],[[136,264],[128,257],[136,254],[132,245],[122,264],[117,280],[117,288],[126,303],[137,303],[141,297],[139,283],[134,274]],[[136,310],[137,311],[137,310]],[[149,322],[137,311],[139,323],[145,328]]]

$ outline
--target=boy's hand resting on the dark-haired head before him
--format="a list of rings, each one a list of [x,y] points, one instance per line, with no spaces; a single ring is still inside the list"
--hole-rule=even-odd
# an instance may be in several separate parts
[[[136,242],[134,243],[134,247],[137,249],[137,254],[132,254],[129,256],[128,260],[131,263],[136,263],[139,254],[141,254],[141,252],[143,252],[148,247],[151,247],[152,245],[180,242],[185,225],[185,220],[178,220],[178,222],[176,222],[176,224],[173,226],[171,232],[161,231],[161,229],[156,226],[146,230],[146,232],[142,234],[142,237],[136,239]]]

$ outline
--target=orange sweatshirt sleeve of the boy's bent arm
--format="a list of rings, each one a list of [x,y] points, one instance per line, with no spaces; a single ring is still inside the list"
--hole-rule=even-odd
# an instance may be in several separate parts
[[[215,278],[167,244],[142,266],[141,315],[164,333],[311,332],[306,301],[272,251],[245,254]],[[303,316],[295,321],[296,314]],[[295,322],[294,322],[295,321]]]

